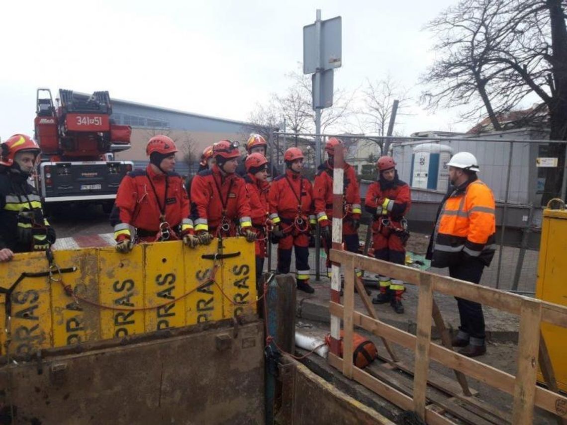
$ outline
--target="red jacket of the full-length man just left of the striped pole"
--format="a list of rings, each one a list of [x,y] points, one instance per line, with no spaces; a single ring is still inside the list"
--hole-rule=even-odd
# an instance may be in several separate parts
[[[268,193],[270,220],[278,224],[282,219],[289,222],[299,214],[309,216],[315,223],[313,213],[313,186],[305,177],[287,169],[285,174],[276,177]]]

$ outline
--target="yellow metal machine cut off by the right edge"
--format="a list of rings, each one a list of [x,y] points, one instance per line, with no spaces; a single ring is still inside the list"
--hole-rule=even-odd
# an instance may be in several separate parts
[[[567,305],[567,211],[565,204],[560,203],[560,210],[549,209],[548,204],[548,209],[543,211],[536,298]],[[567,329],[543,323],[541,333],[552,360],[557,386],[567,392]],[[541,372],[538,380],[545,382]]]

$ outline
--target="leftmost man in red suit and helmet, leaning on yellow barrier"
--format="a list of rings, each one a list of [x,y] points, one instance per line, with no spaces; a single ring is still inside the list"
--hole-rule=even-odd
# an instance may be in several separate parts
[[[183,179],[174,172],[176,152],[169,137],[152,137],[146,146],[150,157],[146,169],[122,179],[111,214],[117,251],[129,252],[136,242],[176,239],[196,246],[189,197]]]

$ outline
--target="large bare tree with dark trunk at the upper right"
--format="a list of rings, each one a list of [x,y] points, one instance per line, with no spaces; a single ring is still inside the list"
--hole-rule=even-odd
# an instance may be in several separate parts
[[[567,139],[567,28],[565,0],[462,0],[426,28],[437,34],[439,58],[423,76],[429,107],[462,105],[465,118],[499,117],[528,95],[549,109],[551,139]],[[545,181],[543,202],[557,196],[565,145],[553,145],[559,171]]]

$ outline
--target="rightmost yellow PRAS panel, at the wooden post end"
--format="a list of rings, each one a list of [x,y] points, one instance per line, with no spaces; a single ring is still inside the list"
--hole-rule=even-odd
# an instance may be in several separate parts
[[[222,260],[223,317],[230,318],[256,312],[256,259],[254,244],[244,237],[223,241],[223,253],[239,256]],[[235,305],[242,304],[242,305]]]

